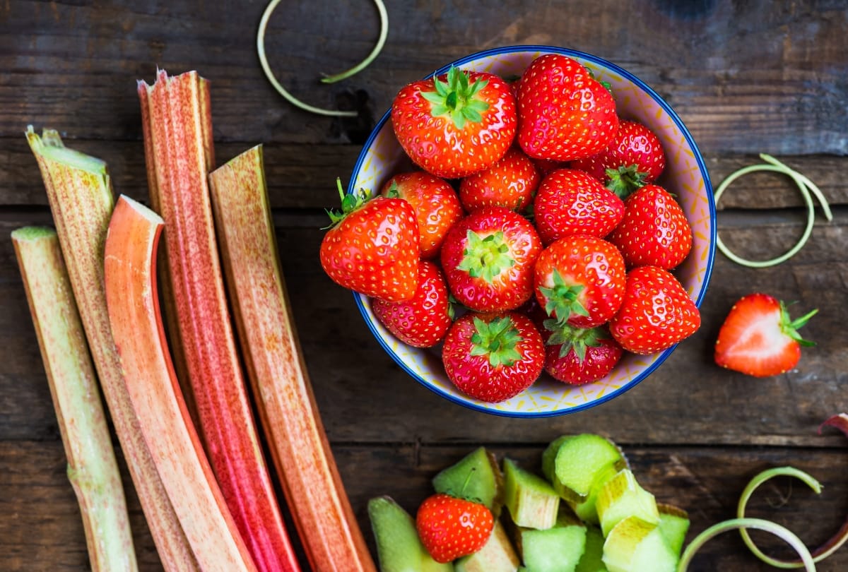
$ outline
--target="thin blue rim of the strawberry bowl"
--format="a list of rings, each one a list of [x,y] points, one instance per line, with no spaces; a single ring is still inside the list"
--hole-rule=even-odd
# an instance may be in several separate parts
[[[715,225],[715,220],[717,218],[716,217],[716,202],[715,202],[715,199],[713,198],[713,194],[712,194],[712,183],[711,183],[711,180],[710,180],[710,174],[706,169],[706,163],[704,162],[704,158],[700,153],[700,148],[695,143],[695,139],[689,133],[689,130],[686,128],[686,125],[683,125],[683,120],[680,119],[677,112],[674,111],[672,106],[669,105],[665,101],[665,99],[660,97],[660,95],[656,91],[654,91],[653,88],[648,86],[646,83],[644,83],[644,81],[640,80],[637,76],[630,73],[627,69],[623,69],[623,68],[619,67],[618,65],[613,64],[613,63],[605,60],[604,58],[599,58],[598,56],[594,56],[590,53],[580,52],[579,50],[574,50],[574,49],[567,48],[567,47],[545,46],[545,45],[541,45],[541,44],[493,47],[493,48],[490,48],[490,49],[487,49],[487,50],[483,50],[481,52],[471,53],[470,55],[467,55],[463,58],[457,59],[454,62],[451,62],[450,64],[446,64],[446,65],[442,66],[441,68],[435,70],[431,74],[426,75],[424,77],[424,79],[430,78],[433,75],[444,74],[445,72],[448,71],[448,69],[450,69],[451,66],[460,66],[462,64],[467,64],[468,62],[475,60],[475,59],[478,59],[478,58],[485,58],[485,57],[489,57],[489,56],[494,56],[494,55],[498,55],[500,53],[514,53],[514,52],[560,53],[560,54],[568,56],[570,58],[580,58],[580,59],[583,59],[585,61],[590,61],[590,62],[593,62],[594,64],[598,64],[601,67],[604,67],[606,69],[611,69],[616,74],[622,75],[623,77],[627,78],[628,81],[632,81],[633,84],[639,86],[639,89],[642,89],[644,92],[648,93],[650,95],[650,97],[661,108],[663,108],[663,110],[665,110],[665,112],[668,114],[668,116],[672,118],[672,121],[674,121],[674,124],[678,126],[678,129],[683,134],[683,138],[689,144],[689,147],[691,147],[692,150],[695,152],[695,161],[697,162],[698,169],[700,170],[700,174],[704,179],[705,190],[706,190],[706,193],[707,193],[707,203],[708,203],[709,208],[710,208],[710,219],[713,221],[713,224],[711,225],[710,247],[709,247],[709,253],[708,253],[708,256],[707,256],[706,271],[704,273],[704,282],[703,282],[703,286],[700,289],[700,292],[698,293],[698,297],[695,299],[695,305],[698,308],[700,308],[700,305],[704,300],[704,296],[706,295],[707,287],[710,285],[710,280],[712,278],[712,267],[713,267],[713,264],[715,262],[715,256],[716,256],[716,236],[717,236],[717,228],[716,228],[716,225]],[[348,182],[347,192],[350,193],[350,192],[355,191],[354,183],[356,181],[356,175],[360,172],[360,169],[362,167],[362,163],[365,161],[365,155],[368,152],[368,149],[371,147],[371,144],[374,142],[374,139],[377,138],[377,134],[380,131],[382,131],[383,126],[386,125],[386,122],[390,118],[391,113],[392,113],[392,110],[391,110],[391,108],[389,108],[388,111],[385,114],[382,115],[382,118],[380,118],[380,120],[377,121],[377,125],[374,126],[374,129],[371,131],[371,135],[368,136],[368,139],[365,141],[365,144],[362,146],[362,150],[360,151],[359,157],[356,158],[356,163],[354,164],[354,169],[351,172],[351,177],[350,177],[350,180]],[[364,295],[362,295],[360,293],[354,292],[354,302],[356,303],[357,308],[359,308],[360,314],[362,315],[362,317],[364,319],[365,319],[365,303],[366,303],[366,300],[367,300],[367,297],[365,297]],[[677,344],[675,344],[672,347],[668,347],[666,350],[663,350],[663,352],[659,355],[659,357],[657,357],[654,360],[654,362],[652,364],[650,364],[650,366],[648,366],[641,373],[639,373],[639,375],[637,375],[635,378],[633,378],[633,380],[628,381],[628,383],[619,387],[615,391],[610,392],[608,394],[605,394],[604,397],[599,397],[598,399],[595,399],[592,402],[582,403],[582,404],[576,405],[572,408],[558,409],[558,410],[555,410],[555,411],[540,411],[540,412],[504,411],[504,410],[495,409],[495,408],[488,408],[485,405],[480,404],[480,403],[473,403],[473,402],[465,401],[460,397],[456,397],[454,395],[451,395],[450,393],[444,392],[443,390],[439,389],[438,387],[433,386],[430,383],[427,383],[425,380],[421,380],[421,378],[418,375],[416,375],[416,373],[414,371],[412,371],[412,369],[410,369],[410,367],[407,364],[405,364],[404,361],[402,359],[400,359],[399,356],[396,353],[393,352],[392,348],[389,347],[388,344],[385,341],[383,341],[382,336],[380,336],[378,334],[377,329],[371,323],[371,321],[368,320],[368,319],[365,319],[365,324],[368,325],[368,329],[371,330],[371,335],[373,335],[377,339],[377,342],[380,343],[383,350],[393,358],[395,363],[398,364],[400,366],[400,368],[403,369],[407,373],[407,375],[410,375],[410,377],[412,379],[416,380],[419,384],[421,384],[421,386],[427,387],[428,390],[430,390],[433,393],[436,393],[438,396],[444,397],[448,401],[453,402],[453,403],[457,403],[458,405],[461,405],[464,408],[469,408],[469,409],[472,409],[472,410],[475,410],[475,411],[480,411],[480,412],[483,412],[483,413],[486,413],[486,414],[498,415],[500,417],[540,418],[541,419],[541,418],[545,418],[545,417],[558,417],[560,415],[574,414],[574,413],[577,413],[579,411],[584,411],[584,410],[589,409],[589,408],[594,408],[594,407],[596,407],[596,406],[598,406],[602,403],[606,403],[606,402],[610,401],[611,399],[613,399],[615,397],[618,397],[619,395],[622,395],[622,393],[624,393],[624,392],[628,392],[630,389],[637,386],[642,380],[647,378],[655,369],[660,367],[660,365],[663,362],[666,361],[666,359],[672,354],[672,352],[674,352],[675,348],[677,347]]]

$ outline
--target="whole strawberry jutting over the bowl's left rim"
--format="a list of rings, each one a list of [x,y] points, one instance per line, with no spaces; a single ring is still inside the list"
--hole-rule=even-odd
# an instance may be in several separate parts
[[[321,241],[321,266],[339,286],[391,302],[408,300],[418,286],[418,225],[410,203],[344,194],[342,213]]]

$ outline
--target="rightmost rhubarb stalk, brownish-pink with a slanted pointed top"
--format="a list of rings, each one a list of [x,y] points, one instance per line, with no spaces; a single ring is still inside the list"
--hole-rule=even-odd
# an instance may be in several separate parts
[[[278,262],[262,147],[213,171],[209,186],[248,378],[311,568],[376,572],[299,347]]]

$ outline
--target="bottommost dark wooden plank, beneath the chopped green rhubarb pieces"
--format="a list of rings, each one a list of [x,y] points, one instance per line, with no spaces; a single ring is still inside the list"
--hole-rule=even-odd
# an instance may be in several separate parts
[[[499,459],[509,457],[538,472],[545,442],[526,446],[486,442]],[[474,445],[473,447],[476,447]],[[374,541],[367,519],[368,499],[388,494],[411,514],[431,493],[430,480],[472,446],[429,447],[384,443],[368,447],[334,444],[333,453],[349,493],[354,514],[371,550]],[[791,464],[806,470],[823,484],[817,496],[801,483],[778,479],[759,491],[750,503],[750,516],[775,519],[795,530],[810,545],[826,539],[848,511],[848,449],[834,451],[788,448],[625,447],[639,482],[661,502],[689,511],[688,541],[707,526],[732,518],[739,494],[762,469]],[[123,467],[123,465],[122,465]],[[368,467],[363,471],[362,467]],[[124,471],[125,483],[126,471]],[[375,478],[374,475],[379,475]],[[131,511],[142,572],[161,569],[131,486]],[[37,508],[34,510],[33,508]],[[0,441],[0,569],[87,569],[85,539],[74,493],[64,475],[64,453],[59,441]],[[816,519],[809,515],[816,514]],[[779,553],[778,543],[763,536],[757,541]],[[848,566],[848,552],[835,553],[818,566],[835,572]],[[693,572],[726,570],[754,572],[769,569],[746,552],[734,534],[708,543]]]

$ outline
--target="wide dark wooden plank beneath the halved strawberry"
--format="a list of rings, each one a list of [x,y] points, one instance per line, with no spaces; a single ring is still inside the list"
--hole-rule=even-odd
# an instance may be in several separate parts
[[[610,431],[622,443],[841,447],[840,437],[816,432],[830,415],[848,411],[848,263],[842,252],[848,212],[838,215],[830,225],[817,225],[801,253],[778,267],[746,269],[718,255],[700,331],[639,386],[580,414],[509,422],[447,403],[383,353],[353,297],[323,274],[318,225],[282,216],[277,238],[300,340],[333,441],[536,442],[558,432],[594,430]],[[0,234],[8,236],[22,224],[21,219],[0,222]],[[793,223],[770,222],[721,232],[728,243],[748,245],[739,253],[752,256],[766,249],[756,245],[780,252],[797,229]],[[55,434],[52,412],[10,249],[9,242],[0,242],[0,438],[48,438]],[[820,309],[803,330],[817,346],[806,348],[797,369],[765,380],[720,369],[711,357],[729,308],[755,290],[796,301],[796,315]],[[610,419],[618,420],[615,427]]]

